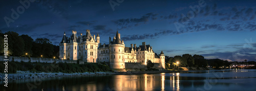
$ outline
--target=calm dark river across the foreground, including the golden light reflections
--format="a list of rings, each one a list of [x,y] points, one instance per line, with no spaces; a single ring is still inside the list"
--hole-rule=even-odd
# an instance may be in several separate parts
[[[3,90],[256,90],[256,70],[26,79],[9,81],[7,89],[1,85]]]

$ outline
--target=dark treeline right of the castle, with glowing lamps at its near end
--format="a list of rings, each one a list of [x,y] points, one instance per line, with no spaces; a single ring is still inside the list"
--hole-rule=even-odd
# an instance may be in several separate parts
[[[179,62],[177,64],[177,62]],[[174,69],[178,65],[184,67],[222,67],[222,66],[230,66],[230,64],[254,64],[254,61],[250,62],[228,62],[227,60],[221,59],[205,59],[202,55],[190,55],[183,54],[182,56],[168,57],[165,56],[165,68],[166,69]]]

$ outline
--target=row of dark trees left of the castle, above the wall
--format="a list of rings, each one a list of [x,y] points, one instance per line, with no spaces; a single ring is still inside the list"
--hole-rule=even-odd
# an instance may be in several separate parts
[[[47,38],[32,39],[16,32],[0,33],[0,54],[4,55],[4,35],[8,35],[8,56],[58,58],[59,46]]]

